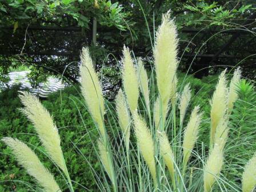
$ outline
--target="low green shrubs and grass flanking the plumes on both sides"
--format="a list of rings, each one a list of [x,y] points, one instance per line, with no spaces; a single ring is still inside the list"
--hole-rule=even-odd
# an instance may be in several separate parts
[[[179,79],[183,79],[184,77],[184,74],[178,74]],[[197,160],[198,155],[200,157],[205,157],[207,153],[204,151],[207,147],[198,144],[201,142],[209,143],[209,98],[210,95],[213,94],[217,80],[217,76],[204,78],[201,81],[189,75],[184,82],[181,81],[178,84],[178,90],[182,90],[182,86],[186,85],[187,82],[190,82],[192,95],[195,95],[191,98],[192,100],[187,111],[191,111],[195,105],[200,105],[201,111],[204,112],[202,115],[203,121],[199,130],[198,142],[195,146],[195,151],[197,151],[198,154],[191,154],[191,160],[187,166],[189,170],[187,171],[186,179],[189,181],[193,178],[191,180],[193,181],[193,185],[190,186],[191,191],[202,190],[202,171],[191,169],[191,167],[200,166],[201,162]],[[89,118],[89,113],[85,111],[85,106],[81,103],[80,99],[78,99],[79,95],[76,89],[77,86],[66,88],[61,93],[51,94],[47,101],[43,101],[43,105],[50,111],[54,120],[57,122],[59,134],[61,135],[61,145],[71,179],[88,187],[90,190],[97,190],[98,186],[92,177],[93,174],[90,172],[92,169],[82,155],[85,155],[89,160],[91,166],[93,166],[93,170],[99,170],[100,163],[97,160],[95,151],[90,143],[91,141],[88,138],[89,134],[97,137],[98,133],[97,131],[93,131],[94,124],[91,121],[91,118]],[[227,146],[224,151],[225,163],[223,165],[223,170],[225,171],[222,171],[221,178],[223,180],[219,180],[223,185],[222,189],[224,190],[224,187],[226,187],[227,191],[233,191],[232,187],[238,189],[243,171],[242,167],[246,164],[247,160],[252,157],[253,151],[256,150],[256,145],[254,144],[254,127],[256,126],[255,113],[251,113],[251,111],[256,111],[255,90],[253,85],[247,81],[242,81],[239,85],[238,94],[239,99],[235,103],[234,110],[231,114],[231,122],[233,122],[233,124],[230,130],[230,139],[227,141]],[[19,110],[17,110],[17,107],[21,107],[21,103],[17,97],[17,89],[3,91],[0,98],[1,112],[3,112],[0,117],[0,130],[3,136],[19,138],[22,141],[37,146],[35,148],[32,147],[32,149],[35,149],[35,153],[39,156],[41,161],[45,163],[45,166],[51,170],[51,173],[54,173],[57,182],[62,186],[63,182],[59,181],[59,179],[62,178],[60,177],[58,170],[52,163],[50,163],[49,159],[39,151],[43,150],[43,147],[38,147],[39,139],[35,135],[30,135],[35,134],[34,127],[27,122],[26,118],[19,112]],[[141,102],[142,101],[139,101],[139,106],[142,107],[143,105]],[[113,140],[115,143],[119,143],[122,139],[120,136],[122,134],[119,135],[115,130],[117,124],[115,124],[116,122],[112,119],[114,110],[111,107],[111,103],[109,104],[110,109],[106,115],[108,118],[110,117],[110,121],[107,123],[107,130],[110,132],[110,130],[114,129],[113,135],[116,136],[115,138],[111,137],[111,141]],[[79,113],[81,113],[82,117],[80,117]],[[179,117],[178,114],[177,117]],[[186,115],[183,124],[187,125],[188,120],[189,115]],[[93,132],[89,133],[89,131]],[[93,139],[96,141],[96,138]],[[76,147],[73,146],[73,142],[77,142],[77,147],[79,147],[80,150],[79,153],[75,150]],[[131,133],[131,142],[134,142],[134,133]],[[6,181],[3,182],[3,184],[1,183],[0,186],[5,190],[11,190],[11,187],[13,186],[17,187],[18,191],[21,189],[28,189],[23,182],[34,184],[33,180],[31,180],[31,177],[29,177],[21,167],[17,166],[14,157],[8,155],[10,150],[6,149],[2,142],[0,143],[0,147],[1,151],[4,153],[2,156],[3,158],[0,160],[0,169],[3,170],[3,174],[0,176],[1,181],[15,179],[21,181],[21,183]],[[130,147],[131,150],[134,150],[133,146]],[[115,161],[116,163],[121,163],[121,160],[115,159]],[[142,163],[142,167],[145,169],[146,166]],[[148,175],[146,177],[148,177]],[[143,182],[147,183],[147,179],[149,178],[143,179]],[[186,185],[188,185],[188,183],[186,183]],[[83,187],[74,184],[74,189],[83,190]],[[147,188],[143,188],[143,190],[147,191]],[[219,191],[219,187],[215,185],[213,191]]]

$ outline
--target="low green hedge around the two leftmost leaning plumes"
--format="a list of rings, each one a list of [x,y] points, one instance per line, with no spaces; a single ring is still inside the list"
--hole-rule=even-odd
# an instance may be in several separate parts
[[[89,117],[89,112],[81,103],[77,89],[78,86],[74,86],[66,88],[61,92],[58,91],[57,93],[50,94],[47,100],[42,103],[43,106],[50,111],[51,115],[53,115],[59,129],[63,155],[65,161],[69,162],[67,169],[69,169],[72,179],[83,186],[94,189],[95,182],[91,176],[90,167],[80,154],[86,154],[89,161],[94,162],[94,168],[98,169],[95,154],[91,153],[91,142],[84,136],[88,131],[94,131],[94,123],[91,118],[87,118]],[[1,137],[15,137],[29,143],[29,147],[35,150],[39,159],[49,168],[51,173],[54,173],[55,179],[57,181],[63,179],[53,163],[42,153],[42,151],[44,151],[44,153],[46,152],[43,147],[41,145],[38,146],[40,141],[37,135],[35,135],[33,125],[27,120],[25,115],[19,111],[22,105],[18,98],[18,87],[5,90],[0,94],[0,106]],[[95,131],[95,134],[96,133],[97,131]],[[75,150],[76,147],[74,144],[79,147],[79,153]],[[15,158],[8,155],[11,150],[7,149],[3,142],[0,142],[0,151],[2,153],[0,159],[0,191],[11,191],[14,188],[17,189],[17,191],[29,189],[24,182],[29,182],[34,185],[34,181],[31,180],[31,177],[24,169],[17,166]],[[59,185],[63,185],[63,181],[60,182]],[[77,184],[73,183],[73,185],[76,189],[79,189]],[[1,190],[1,187],[5,190]]]

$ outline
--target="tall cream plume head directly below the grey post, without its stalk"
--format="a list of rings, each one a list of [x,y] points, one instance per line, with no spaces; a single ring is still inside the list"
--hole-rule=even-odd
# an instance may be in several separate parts
[[[89,49],[83,48],[81,54],[82,65],[80,66],[81,90],[88,109],[97,123],[99,131],[104,138],[105,127],[103,116],[105,113],[104,99],[101,84],[93,67]]]

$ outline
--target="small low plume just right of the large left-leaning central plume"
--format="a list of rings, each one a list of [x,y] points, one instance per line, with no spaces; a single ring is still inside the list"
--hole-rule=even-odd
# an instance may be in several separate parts
[[[169,173],[171,175],[171,180],[174,181],[174,154],[173,150],[171,150],[171,146],[169,143],[169,140],[166,136],[166,133],[161,133],[159,137],[159,145],[160,145],[160,153],[163,157],[163,161],[165,161],[165,164],[169,170]]]

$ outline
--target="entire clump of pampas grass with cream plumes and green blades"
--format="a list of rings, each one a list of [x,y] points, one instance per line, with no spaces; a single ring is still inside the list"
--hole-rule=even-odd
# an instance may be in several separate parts
[[[241,183],[237,185],[234,185],[235,181],[225,179],[226,169],[222,169],[227,164],[225,145],[229,142],[230,114],[238,99],[237,83],[241,79],[241,70],[235,70],[230,86],[227,86],[226,70],[219,76],[210,101],[210,122],[207,122],[202,118],[200,106],[191,106],[191,113],[187,110],[193,97],[190,85],[178,87],[178,38],[170,12],[163,15],[156,34],[155,67],[152,70],[156,74],[158,93],[154,95],[155,87],[149,83],[154,81],[148,79],[142,59],[136,61],[124,46],[123,86],[114,107],[103,98],[89,49],[82,50],[81,90],[98,130],[98,133],[88,135],[100,162],[100,170],[94,169],[95,165],[86,157],[88,154],[83,154],[77,146],[74,148],[91,167],[98,191],[253,190],[256,185],[255,156],[245,166]],[[61,138],[50,114],[33,95],[22,93],[20,98],[25,105],[22,111],[33,122],[49,158],[63,171],[69,190],[76,190],[63,158]],[[139,109],[141,102],[143,109]],[[208,123],[209,143],[198,141],[202,121]],[[12,138],[3,138],[2,141],[10,146],[19,164],[45,191],[65,190],[65,186],[54,181],[53,175],[24,143]]]

